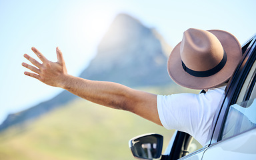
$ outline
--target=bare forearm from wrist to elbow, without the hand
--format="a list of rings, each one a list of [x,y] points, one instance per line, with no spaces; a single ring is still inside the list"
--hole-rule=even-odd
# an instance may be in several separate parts
[[[115,109],[131,110],[131,108],[129,108],[131,104],[129,99],[133,99],[131,97],[133,89],[118,83],[91,81],[72,75],[66,75],[61,87],[93,103]]]

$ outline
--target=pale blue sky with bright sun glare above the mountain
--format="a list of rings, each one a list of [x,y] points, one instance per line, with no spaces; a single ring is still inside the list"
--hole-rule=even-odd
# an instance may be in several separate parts
[[[253,0],[0,0],[0,123],[7,114],[62,91],[23,75],[27,71],[21,66],[26,61],[23,54],[33,55],[31,47],[57,61],[59,46],[68,73],[77,76],[95,56],[97,44],[119,13],[157,29],[173,47],[191,27],[229,31],[243,44],[256,33],[255,6]]]

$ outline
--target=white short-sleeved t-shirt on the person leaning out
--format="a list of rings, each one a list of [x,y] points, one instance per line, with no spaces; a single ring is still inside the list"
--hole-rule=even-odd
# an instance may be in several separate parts
[[[225,86],[209,89],[205,94],[180,93],[157,95],[157,109],[163,127],[189,133],[201,145],[207,139],[225,94]]]

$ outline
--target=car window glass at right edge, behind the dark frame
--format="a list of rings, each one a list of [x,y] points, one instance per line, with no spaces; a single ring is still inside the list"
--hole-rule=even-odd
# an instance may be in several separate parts
[[[222,139],[239,135],[256,127],[256,63],[247,74],[235,104],[229,107]]]

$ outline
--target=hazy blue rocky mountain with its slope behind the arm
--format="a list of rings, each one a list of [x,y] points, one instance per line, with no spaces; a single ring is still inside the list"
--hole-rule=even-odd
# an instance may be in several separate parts
[[[120,14],[114,19],[99,43],[97,55],[80,77],[98,81],[114,81],[129,87],[172,83],[167,74],[167,53],[171,47],[155,29],[145,27],[137,19]],[[11,125],[35,119],[77,98],[63,91],[53,99],[11,114],[0,125],[0,131]]]

